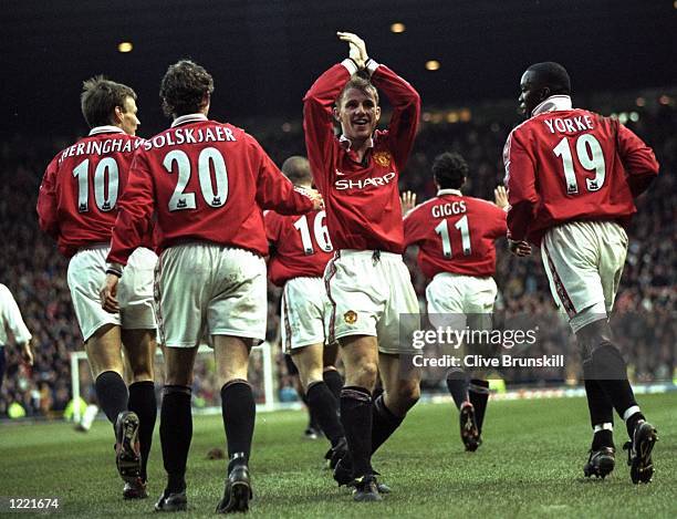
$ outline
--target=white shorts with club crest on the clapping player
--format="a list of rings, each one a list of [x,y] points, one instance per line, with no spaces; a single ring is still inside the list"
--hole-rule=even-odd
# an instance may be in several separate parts
[[[402,256],[340,250],[326,266],[324,282],[330,342],[369,335],[378,339],[382,353],[415,352],[412,334],[420,325],[418,299]]]

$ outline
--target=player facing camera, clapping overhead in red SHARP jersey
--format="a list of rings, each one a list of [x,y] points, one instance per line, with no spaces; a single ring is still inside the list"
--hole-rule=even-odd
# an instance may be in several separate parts
[[[400,362],[403,353],[412,352],[418,301],[402,259],[397,179],[416,136],[420,97],[409,83],[369,59],[358,37],[340,32],[338,38],[348,43],[350,58],[315,81],[303,111],[311,170],[337,250],[325,284],[332,307],[330,334],[340,341],[345,365],[341,421],[351,459],[336,466],[334,477],[340,484],[355,480],[355,500],[381,500],[372,454],[419,397],[419,373],[405,357]],[[376,131],[376,89],[393,106],[383,132]],[[341,137],[334,136],[335,121]],[[385,393],[372,402],[378,373]]]

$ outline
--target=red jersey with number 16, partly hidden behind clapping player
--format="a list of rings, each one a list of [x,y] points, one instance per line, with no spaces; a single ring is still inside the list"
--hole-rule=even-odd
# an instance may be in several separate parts
[[[322,277],[334,256],[325,218],[323,210],[302,216],[265,212],[265,233],[274,248],[268,276],[274,284],[282,287],[293,278]]]

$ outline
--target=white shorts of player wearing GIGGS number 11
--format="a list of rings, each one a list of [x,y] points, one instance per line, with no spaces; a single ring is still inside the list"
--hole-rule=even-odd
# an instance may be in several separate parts
[[[440,272],[426,288],[428,316],[436,326],[466,328],[471,316],[473,330],[491,330],[491,313],[498,288],[493,278]]]

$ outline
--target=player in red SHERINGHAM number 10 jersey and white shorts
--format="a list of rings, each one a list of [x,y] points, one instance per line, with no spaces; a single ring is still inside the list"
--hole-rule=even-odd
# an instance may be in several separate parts
[[[126,499],[145,498],[146,465],[157,415],[154,386],[156,320],[153,269],[157,256],[145,233],[131,257],[132,276],[119,288],[115,314],[105,312],[98,293],[104,281],[111,229],[128,170],[143,139],[136,137],[136,94],[102,76],[83,84],[82,113],[90,134],[59,153],[48,166],[40,195],[40,227],[71,258],[67,283],[96,396],[115,425],[117,468]],[[132,367],[127,391],[122,347]],[[136,447],[137,443],[139,446]],[[137,451],[137,448],[140,448]]]

